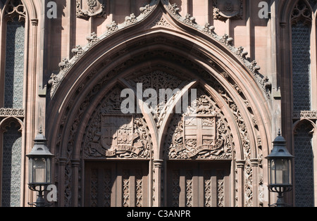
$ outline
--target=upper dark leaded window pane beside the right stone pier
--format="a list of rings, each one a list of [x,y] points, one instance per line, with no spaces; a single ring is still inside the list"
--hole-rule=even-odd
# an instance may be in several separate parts
[[[292,25],[293,108],[311,110],[311,27]]]

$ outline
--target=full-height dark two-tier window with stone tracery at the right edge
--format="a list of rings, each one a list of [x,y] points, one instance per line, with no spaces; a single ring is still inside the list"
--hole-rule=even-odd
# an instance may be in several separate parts
[[[311,7],[316,1],[299,0],[291,15],[292,25],[292,104],[293,121],[302,122],[295,127],[294,139],[294,196],[295,206],[314,206],[314,160],[313,160],[313,119],[311,30],[313,16]],[[304,114],[309,113],[309,114]],[[306,119],[306,120],[304,120]]]

